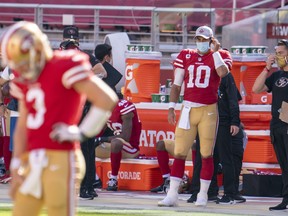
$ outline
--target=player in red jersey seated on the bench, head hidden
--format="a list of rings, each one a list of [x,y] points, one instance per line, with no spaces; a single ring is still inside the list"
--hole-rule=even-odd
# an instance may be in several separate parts
[[[139,155],[139,139],[142,124],[133,103],[120,100],[107,122],[114,136],[98,137],[95,140],[96,157],[111,158],[111,176],[108,191],[118,190],[117,175],[122,158],[135,158]]]

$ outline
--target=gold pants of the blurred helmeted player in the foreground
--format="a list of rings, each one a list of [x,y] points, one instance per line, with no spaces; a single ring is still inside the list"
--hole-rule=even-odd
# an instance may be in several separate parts
[[[85,173],[81,150],[47,150],[48,166],[43,168],[42,197],[16,193],[13,216],[36,216],[43,206],[49,216],[74,216],[80,182]],[[29,170],[29,167],[27,168]],[[29,171],[28,171],[29,173]],[[27,173],[27,174],[28,174]]]

